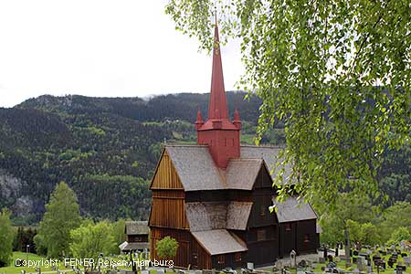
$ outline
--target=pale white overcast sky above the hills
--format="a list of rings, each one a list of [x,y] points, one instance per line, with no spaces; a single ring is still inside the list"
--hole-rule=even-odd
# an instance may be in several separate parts
[[[0,107],[42,94],[209,92],[211,57],[174,29],[166,0],[0,0]],[[226,90],[243,71],[222,48]]]

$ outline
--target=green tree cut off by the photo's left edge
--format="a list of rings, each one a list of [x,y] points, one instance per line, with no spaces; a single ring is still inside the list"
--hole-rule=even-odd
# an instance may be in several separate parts
[[[5,208],[0,212],[0,267],[8,265],[13,255],[13,227],[11,213]]]

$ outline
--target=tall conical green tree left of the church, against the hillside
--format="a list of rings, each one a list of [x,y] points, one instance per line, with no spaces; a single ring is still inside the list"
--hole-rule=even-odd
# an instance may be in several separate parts
[[[70,230],[79,227],[80,221],[77,195],[68,184],[61,182],[50,195],[35,242],[47,248],[50,258],[67,256]]]

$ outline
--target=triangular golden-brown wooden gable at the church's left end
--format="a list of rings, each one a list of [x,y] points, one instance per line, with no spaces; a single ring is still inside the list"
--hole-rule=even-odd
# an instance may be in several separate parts
[[[180,177],[178,176],[174,164],[171,161],[167,150],[163,150],[160,162],[155,170],[152,184],[150,189],[180,189],[183,190],[183,184],[181,184]]]

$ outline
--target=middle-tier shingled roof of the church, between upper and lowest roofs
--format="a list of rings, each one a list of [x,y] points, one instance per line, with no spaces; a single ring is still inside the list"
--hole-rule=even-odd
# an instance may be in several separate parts
[[[245,230],[251,202],[193,202],[185,204],[190,231]]]

